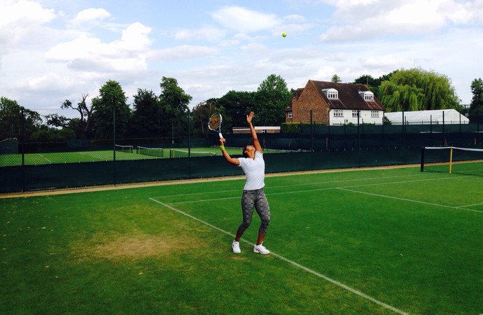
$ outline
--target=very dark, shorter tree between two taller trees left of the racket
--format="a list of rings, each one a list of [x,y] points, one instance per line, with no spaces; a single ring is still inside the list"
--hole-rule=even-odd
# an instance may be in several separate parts
[[[131,137],[160,137],[162,117],[158,96],[152,90],[138,89],[133,107]]]

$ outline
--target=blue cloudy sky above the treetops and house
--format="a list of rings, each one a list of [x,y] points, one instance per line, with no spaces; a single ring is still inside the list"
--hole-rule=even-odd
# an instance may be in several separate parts
[[[295,89],[414,67],[469,104],[482,52],[483,0],[0,0],[0,96],[28,109],[96,97],[107,80],[131,104],[176,78],[193,107],[272,73]]]

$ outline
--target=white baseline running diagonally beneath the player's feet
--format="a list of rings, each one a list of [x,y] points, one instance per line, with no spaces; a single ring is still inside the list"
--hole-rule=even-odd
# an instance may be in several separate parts
[[[238,198],[238,197],[237,197],[237,198]],[[163,203],[163,202],[160,202],[160,201],[158,201],[158,200],[155,200],[154,198],[149,198],[149,199],[150,199],[150,200],[152,200],[153,202],[156,202],[156,203],[158,203],[158,204],[161,204],[161,205],[162,205],[162,206],[164,206],[164,207],[167,207],[168,209],[171,209],[172,211],[176,211],[176,212],[178,212],[179,214],[183,214],[183,216],[188,216],[188,218],[192,218],[192,219],[193,219],[193,220],[195,220],[195,221],[198,221],[198,222],[200,222],[200,223],[203,223],[204,225],[207,225],[207,226],[209,226],[210,228],[214,228],[215,230],[218,230],[218,231],[220,231],[220,232],[223,232],[223,233],[224,233],[224,234],[226,234],[226,235],[230,235],[231,237],[235,237],[235,235],[231,234],[230,232],[227,232],[227,231],[225,231],[225,230],[222,230],[221,228],[216,227],[215,225],[212,225],[212,224],[210,224],[210,223],[207,223],[207,222],[205,222],[205,221],[202,221],[202,220],[200,220],[199,218],[196,218],[195,216],[192,216],[192,215],[190,215],[190,214],[186,214],[186,212],[183,212],[183,211],[181,211],[181,210],[179,210],[179,209],[176,209],[176,208],[174,208],[174,207],[170,206],[169,204],[165,204],[165,203]],[[241,239],[241,241],[244,241],[245,243],[250,244],[251,246],[254,246],[254,245],[255,245],[255,244],[250,243],[249,241],[246,241],[246,240],[244,240],[244,239]],[[396,309],[395,307],[392,307],[392,306],[391,306],[391,305],[389,305],[389,304],[386,304],[386,303],[384,303],[384,302],[381,302],[381,301],[379,301],[379,300],[376,300],[376,299],[374,299],[374,297],[370,297],[369,295],[366,295],[366,294],[364,294],[364,293],[360,292],[359,290],[356,290],[356,289],[354,289],[354,288],[351,288],[350,286],[346,286],[344,283],[341,283],[341,282],[339,282],[339,281],[335,281],[334,279],[330,279],[328,276],[324,276],[323,274],[320,274],[320,273],[318,273],[318,272],[316,272],[316,271],[314,271],[314,270],[312,270],[312,269],[309,269],[309,268],[307,268],[307,267],[304,267],[303,265],[300,265],[299,263],[294,262],[293,260],[290,260],[290,259],[288,259],[288,258],[285,258],[285,257],[283,257],[283,256],[281,256],[281,255],[278,255],[278,254],[276,254],[276,253],[272,252],[272,251],[270,252],[270,254],[271,254],[271,255],[273,255],[273,256],[274,256],[274,257],[276,257],[276,258],[279,258],[279,259],[281,259],[281,260],[283,260],[283,261],[285,261],[285,262],[288,262],[290,265],[293,265],[293,266],[295,266],[295,267],[297,267],[297,268],[300,268],[300,269],[302,269],[302,270],[304,270],[304,271],[306,271],[306,272],[309,272],[309,273],[311,273],[311,274],[314,274],[314,276],[318,276],[319,278],[324,279],[325,281],[328,281],[328,282],[330,282],[330,283],[333,283],[333,284],[335,284],[336,286],[339,286],[340,288],[344,288],[344,290],[348,290],[349,292],[354,293],[354,294],[356,294],[356,295],[359,295],[360,297],[363,297],[363,298],[365,298],[366,300],[370,300],[371,302],[374,302],[374,303],[378,304],[378,305],[379,305],[379,306],[381,306],[381,307],[384,307],[384,308],[386,308],[386,309],[390,309],[391,311],[394,311],[395,313],[398,313],[398,314],[407,314],[405,311],[401,311],[400,309]]]

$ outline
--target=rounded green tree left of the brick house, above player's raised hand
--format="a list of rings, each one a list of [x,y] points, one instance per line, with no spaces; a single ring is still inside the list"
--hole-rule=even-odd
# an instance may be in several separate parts
[[[292,94],[281,76],[270,74],[256,93],[255,122],[257,125],[279,126],[285,122],[285,109]]]

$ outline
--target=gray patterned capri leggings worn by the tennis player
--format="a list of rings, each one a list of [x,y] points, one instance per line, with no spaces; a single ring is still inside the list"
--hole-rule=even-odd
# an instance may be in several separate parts
[[[262,223],[258,232],[267,233],[268,225],[270,223],[270,207],[268,205],[267,196],[263,188],[257,190],[244,190],[241,195],[241,211],[243,211],[243,222],[238,227],[238,230],[245,232],[245,230],[251,224],[251,218],[253,215],[253,208],[260,216]]]

